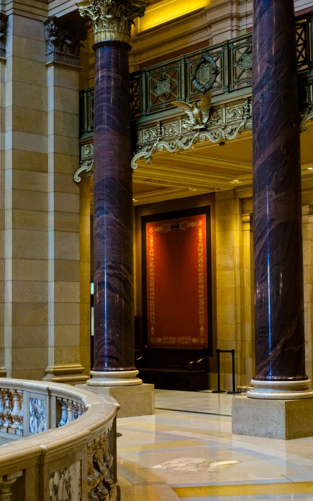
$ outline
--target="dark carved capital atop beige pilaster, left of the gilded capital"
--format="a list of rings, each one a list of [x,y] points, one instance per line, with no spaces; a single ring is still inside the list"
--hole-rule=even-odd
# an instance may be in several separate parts
[[[58,62],[79,66],[79,51],[83,47],[81,41],[86,40],[87,32],[77,29],[70,22],[64,23],[56,17],[45,19],[44,25],[47,63]]]

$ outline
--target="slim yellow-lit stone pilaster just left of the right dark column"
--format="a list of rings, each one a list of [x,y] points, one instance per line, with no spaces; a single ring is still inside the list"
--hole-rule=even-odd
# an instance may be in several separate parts
[[[252,213],[241,214],[243,229],[244,334],[246,386],[255,372]]]

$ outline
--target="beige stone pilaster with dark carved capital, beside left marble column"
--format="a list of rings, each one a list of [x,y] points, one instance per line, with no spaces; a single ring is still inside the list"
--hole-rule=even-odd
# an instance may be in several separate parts
[[[79,164],[79,50],[86,34],[57,18],[48,18],[44,24],[48,45],[49,225],[49,363],[44,379],[76,384],[89,379],[80,362],[80,322],[86,307],[80,304],[81,292],[85,293],[81,272],[86,272],[86,256],[80,264],[80,227],[84,221],[79,185],[73,179]],[[83,232],[84,239],[88,232]],[[85,273],[87,280],[89,287],[90,277]],[[82,328],[86,328],[84,323]],[[84,349],[87,355],[86,340]]]

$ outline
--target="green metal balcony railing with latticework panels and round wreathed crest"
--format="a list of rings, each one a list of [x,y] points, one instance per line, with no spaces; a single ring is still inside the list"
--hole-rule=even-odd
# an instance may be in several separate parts
[[[296,18],[296,46],[299,76],[307,86],[313,79],[313,12]],[[132,119],[164,119],[164,111],[177,110],[173,101],[192,103],[208,88],[213,98],[240,99],[251,89],[251,73],[252,34],[137,71],[130,79]],[[82,138],[93,132],[93,95],[93,88],[81,93]]]

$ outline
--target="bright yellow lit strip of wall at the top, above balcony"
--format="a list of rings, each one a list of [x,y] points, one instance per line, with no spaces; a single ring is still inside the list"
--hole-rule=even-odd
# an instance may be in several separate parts
[[[212,0],[161,0],[148,6],[143,18],[136,19],[134,32],[142,32],[207,7]]]

